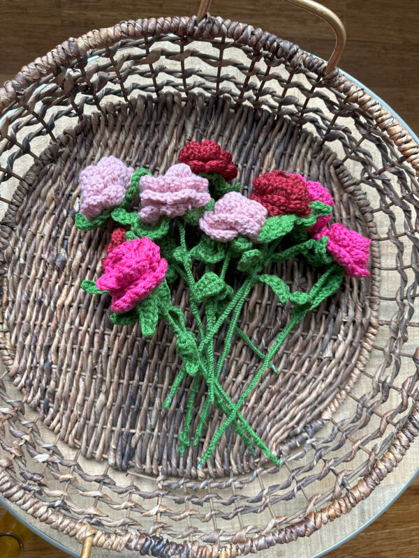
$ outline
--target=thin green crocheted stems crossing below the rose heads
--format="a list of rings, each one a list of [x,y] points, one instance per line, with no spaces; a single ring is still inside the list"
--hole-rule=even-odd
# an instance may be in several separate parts
[[[186,280],[191,292],[191,296],[190,296],[191,310],[193,312],[193,316],[196,319],[196,324],[198,326],[198,332],[199,332],[199,341],[200,341],[198,345],[199,370],[203,374],[203,377],[207,384],[207,391],[208,391],[207,397],[205,398],[205,402],[203,405],[203,409],[200,412],[200,422],[196,430],[196,435],[193,440],[193,445],[198,444],[198,440],[203,430],[203,425],[205,424],[205,419],[207,417],[208,411],[210,409],[210,406],[213,405],[214,402],[216,404],[216,407],[219,409],[219,411],[223,412],[223,414],[226,414],[227,417],[226,421],[223,422],[219,430],[216,431],[207,450],[203,454],[198,464],[198,469],[200,469],[203,466],[203,463],[210,457],[210,455],[212,455],[217,442],[219,442],[219,439],[223,435],[223,432],[226,430],[226,428],[228,428],[228,425],[230,424],[233,425],[233,428],[235,429],[237,434],[239,434],[242,437],[244,443],[249,448],[249,451],[251,452],[252,455],[254,455],[254,450],[252,446],[252,440],[253,440],[253,443],[256,446],[258,446],[267,455],[267,457],[269,457],[275,463],[275,465],[279,466],[280,465],[279,459],[270,451],[270,449],[266,446],[263,440],[260,439],[260,437],[256,434],[256,432],[254,432],[254,430],[251,428],[249,423],[247,423],[245,418],[240,413],[240,407],[242,406],[244,400],[247,398],[249,393],[251,393],[253,388],[256,386],[256,384],[260,379],[260,376],[262,375],[263,371],[267,367],[270,366],[275,370],[275,372],[277,372],[276,368],[274,368],[274,366],[270,361],[274,356],[274,354],[279,349],[279,347],[281,346],[281,343],[286,338],[286,335],[288,335],[291,329],[293,329],[293,326],[295,326],[298,322],[300,322],[300,320],[304,317],[304,315],[307,314],[309,310],[318,306],[318,304],[320,304],[323,298],[325,297],[321,297],[321,299],[316,300],[316,303],[314,305],[309,305],[304,308],[297,308],[297,307],[294,308],[293,312],[291,313],[291,317],[288,321],[288,324],[286,325],[285,329],[279,333],[277,339],[275,340],[274,344],[272,345],[269,352],[267,352],[267,354],[263,354],[255,345],[253,345],[253,343],[246,335],[246,333],[244,333],[244,331],[242,331],[237,326],[237,320],[240,316],[240,312],[242,310],[247,295],[249,294],[253,286],[256,285],[256,283],[258,282],[258,273],[262,271],[265,268],[265,266],[272,261],[275,262],[285,261],[286,259],[289,259],[300,252],[306,251],[308,248],[314,246],[314,243],[316,241],[310,239],[308,241],[305,241],[304,243],[301,243],[300,245],[293,246],[291,248],[288,248],[288,250],[284,250],[284,252],[279,252],[277,254],[274,254],[274,251],[277,248],[279,241],[274,241],[274,243],[272,243],[270,246],[266,246],[264,248],[263,262],[261,262],[258,268],[256,268],[252,273],[249,274],[248,278],[244,281],[242,286],[237,290],[235,296],[230,301],[230,303],[228,303],[228,305],[223,310],[223,312],[221,312],[221,315],[219,317],[216,317],[216,306],[217,306],[216,302],[212,300],[207,301],[207,305],[206,305],[207,327],[206,330],[204,331],[203,321],[200,317],[198,305],[195,301],[195,296],[194,296],[195,279],[193,278],[193,273],[192,273],[191,257],[189,255],[189,250],[187,249],[186,246],[185,231],[181,223],[178,223],[178,226],[179,226],[181,248],[183,252],[182,263],[184,264],[184,270],[182,270],[182,268],[180,268],[180,266],[177,265],[175,265],[175,269],[177,270],[179,275],[181,275],[184,278],[184,280]],[[222,279],[226,276],[226,271],[228,269],[230,258],[231,258],[231,254],[230,254],[230,250],[228,249],[220,273],[220,277]],[[320,283],[325,282],[328,273],[330,273],[330,271],[332,271],[333,268],[334,266],[330,266],[328,268],[328,270],[325,272],[322,278],[318,280],[318,285],[320,285]],[[233,309],[234,309],[233,317],[232,319],[228,319],[228,315],[230,314],[230,312],[233,311]],[[170,317],[170,310],[168,310],[166,317],[168,318],[168,322],[172,326],[172,329],[174,329],[175,334],[181,333],[179,331],[179,327],[177,326],[177,324]],[[228,323],[228,331],[224,342],[223,352],[214,370],[214,351],[213,351],[214,335],[217,331],[219,331],[219,328],[223,325],[224,322]],[[253,352],[255,352],[255,354],[259,356],[260,359],[263,360],[263,362],[260,365],[260,368],[258,368],[258,372],[256,372],[256,375],[253,377],[251,384],[249,384],[246,391],[244,391],[244,393],[241,395],[240,399],[236,403],[233,403],[228,397],[228,395],[226,394],[226,392],[223,390],[221,384],[219,383],[219,376],[221,374],[221,370],[223,368],[224,362],[226,361],[228,353],[230,352],[231,340],[235,332],[238,335],[240,335],[240,337],[244,340],[244,342],[247,343],[247,345],[253,350]],[[163,405],[163,408],[168,409],[168,407],[170,407],[170,402],[172,401],[172,398],[174,397],[177,389],[182,383],[185,374],[186,374],[186,367],[183,367],[182,370],[179,371],[175,379],[175,382],[172,385],[172,389],[170,390],[170,393]],[[191,391],[189,392],[189,400],[186,405],[186,418],[184,423],[184,429],[179,435],[179,442],[180,442],[179,452],[181,454],[183,454],[184,451],[186,450],[186,447],[190,445],[189,430],[192,421],[193,404],[195,402],[196,393],[198,392],[198,387],[199,387],[199,375],[198,373],[196,373],[193,377],[193,384],[191,386]]]

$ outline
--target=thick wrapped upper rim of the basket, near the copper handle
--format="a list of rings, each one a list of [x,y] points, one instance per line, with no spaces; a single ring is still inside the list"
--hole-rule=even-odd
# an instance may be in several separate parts
[[[412,135],[404,128],[393,114],[381,103],[373,98],[365,89],[349,80],[348,77],[335,68],[325,76],[327,63],[306,52],[291,41],[283,40],[273,33],[260,28],[222,17],[207,15],[198,22],[195,15],[175,17],[152,17],[138,20],[126,20],[112,27],[93,29],[78,38],[68,38],[61,45],[47,52],[45,56],[36,58],[27,66],[23,66],[13,80],[6,81],[0,88],[0,116],[6,113],[10,105],[23,95],[30,86],[38,84],[50,73],[56,73],[60,66],[70,61],[86,56],[90,50],[109,49],[122,40],[136,40],[144,37],[159,37],[174,34],[188,36],[193,40],[212,40],[214,38],[229,38],[242,46],[253,48],[255,51],[266,51],[288,61],[291,67],[304,67],[316,73],[323,80],[325,86],[343,93],[346,102],[354,103],[369,114],[378,128],[387,133],[390,140],[397,146],[401,155],[419,176],[419,145]]]

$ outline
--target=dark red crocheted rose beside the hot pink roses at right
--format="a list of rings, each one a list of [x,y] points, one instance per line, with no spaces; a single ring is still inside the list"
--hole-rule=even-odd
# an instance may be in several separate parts
[[[297,174],[273,170],[253,179],[250,196],[262,204],[269,216],[294,213],[306,217],[310,213],[311,197],[307,183]]]

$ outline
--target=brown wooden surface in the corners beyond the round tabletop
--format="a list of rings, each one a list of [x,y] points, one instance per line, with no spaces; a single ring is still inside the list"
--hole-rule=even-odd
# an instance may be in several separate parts
[[[339,66],[381,96],[419,133],[418,0],[325,0],[346,25]],[[68,36],[120,20],[196,13],[198,0],[3,0],[0,2],[0,82]],[[212,13],[272,31],[328,58],[335,40],[326,24],[280,0],[214,0]],[[1,453],[1,452],[0,452]],[[0,511],[0,516],[1,516]],[[350,518],[348,518],[350,519]],[[329,558],[419,558],[419,478],[365,531]],[[326,527],[327,528],[327,527]],[[0,549],[1,550],[1,549]],[[1,556],[1,552],[0,552]],[[64,558],[32,537],[24,557]]]

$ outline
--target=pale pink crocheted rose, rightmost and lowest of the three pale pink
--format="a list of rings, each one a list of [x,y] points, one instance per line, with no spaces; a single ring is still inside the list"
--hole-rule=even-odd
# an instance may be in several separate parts
[[[228,242],[239,234],[256,240],[267,218],[266,209],[238,192],[228,192],[205,211],[199,226],[214,240]]]

